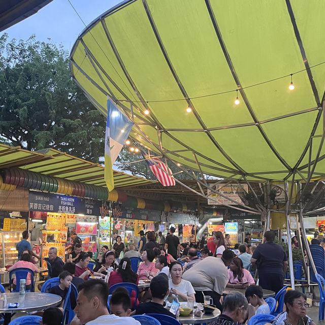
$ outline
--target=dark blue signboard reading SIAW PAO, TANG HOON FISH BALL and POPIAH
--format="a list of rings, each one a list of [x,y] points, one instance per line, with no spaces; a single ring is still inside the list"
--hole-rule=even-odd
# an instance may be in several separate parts
[[[29,191],[29,211],[99,216],[102,202],[76,196]]]

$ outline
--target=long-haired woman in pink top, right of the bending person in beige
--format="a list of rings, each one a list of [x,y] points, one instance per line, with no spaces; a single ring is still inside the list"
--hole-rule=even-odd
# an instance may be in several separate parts
[[[242,289],[250,284],[255,284],[253,277],[248,270],[243,269],[243,262],[240,258],[234,257],[228,269],[228,283],[226,287]]]

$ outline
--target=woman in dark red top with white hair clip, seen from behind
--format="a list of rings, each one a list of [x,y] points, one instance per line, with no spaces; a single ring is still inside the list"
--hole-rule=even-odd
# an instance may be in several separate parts
[[[131,282],[136,285],[139,284],[139,276],[132,271],[131,260],[128,257],[123,257],[121,259],[118,269],[114,272],[111,272],[110,277],[108,279],[108,285],[110,287],[116,283],[122,283],[122,282]],[[133,309],[136,302],[135,291],[132,291],[130,298],[131,298],[131,307]]]

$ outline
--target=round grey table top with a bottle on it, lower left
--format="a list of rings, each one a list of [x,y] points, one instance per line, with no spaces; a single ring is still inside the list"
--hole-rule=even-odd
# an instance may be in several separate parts
[[[52,293],[43,292],[26,292],[19,294],[19,292],[1,293],[0,299],[7,296],[7,304],[19,303],[18,308],[4,308],[0,307],[1,313],[16,313],[17,311],[33,311],[49,307],[55,307],[61,302],[61,297]]]

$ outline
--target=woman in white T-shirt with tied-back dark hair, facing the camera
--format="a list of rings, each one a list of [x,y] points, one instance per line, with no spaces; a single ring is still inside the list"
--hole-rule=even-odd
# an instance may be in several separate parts
[[[195,302],[195,290],[191,283],[187,280],[182,279],[183,267],[182,263],[175,261],[171,263],[170,274],[172,279],[169,280],[169,296],[168,300],[176,300],[177,295],[178,301],[193,300]]]

